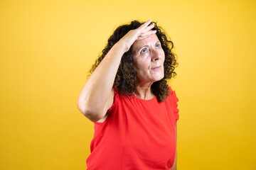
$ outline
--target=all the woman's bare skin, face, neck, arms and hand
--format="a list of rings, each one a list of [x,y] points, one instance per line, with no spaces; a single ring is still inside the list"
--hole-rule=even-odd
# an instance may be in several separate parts
[[[78,97],[78,109],[92,122],[103,122],[107,118],[107,110],[114,101],[114,78],[117,74],[122,55],[133,45],[134,64],[137,70],[139,86],[134,95],[143,99],[154,97],[151,84],[164,77],[164,51],[159,47],[154,24],[146,21],[137,29],[129,30],[100,62],[95,71],[87,79]],[[146,47],[144,47],[146,45]],[[143,52],[137,52],[143,47]],[[154,69],[155,67],[160,69]],[[176,157],[172,170],[176,169]]]

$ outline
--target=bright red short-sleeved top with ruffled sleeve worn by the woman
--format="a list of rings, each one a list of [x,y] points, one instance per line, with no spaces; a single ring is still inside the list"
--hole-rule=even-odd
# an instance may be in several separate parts
[[[171,90],[164,103],[114,91],[103,123],[95,123],[87,169],[170,169],[176,154],[178,98]]]

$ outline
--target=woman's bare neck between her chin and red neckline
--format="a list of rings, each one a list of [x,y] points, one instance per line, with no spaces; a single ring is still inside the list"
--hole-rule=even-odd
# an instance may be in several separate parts
[[[144,100],[149,100],[151,98],[154,98],[154,94],[152,94],[152,92],[151,92],[152,84],[153,83],[139,84],[134,91],[134,95],[137,96],[138,98],[142,98]]]

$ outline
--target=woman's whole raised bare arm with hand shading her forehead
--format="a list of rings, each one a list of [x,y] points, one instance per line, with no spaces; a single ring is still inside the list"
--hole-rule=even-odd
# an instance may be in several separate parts
[[[156,30],[151,30],[154,24],[149,26],[150,22],[151,20],[146,21],[139,28],[129,30],[110,49],[82,87],[78,97],[78,109],[92,122],[104,118],[107,110],[112,106],[114,100],[114,78],[124,52],[129,50],[135,40],[140,40],[156,33]]]

